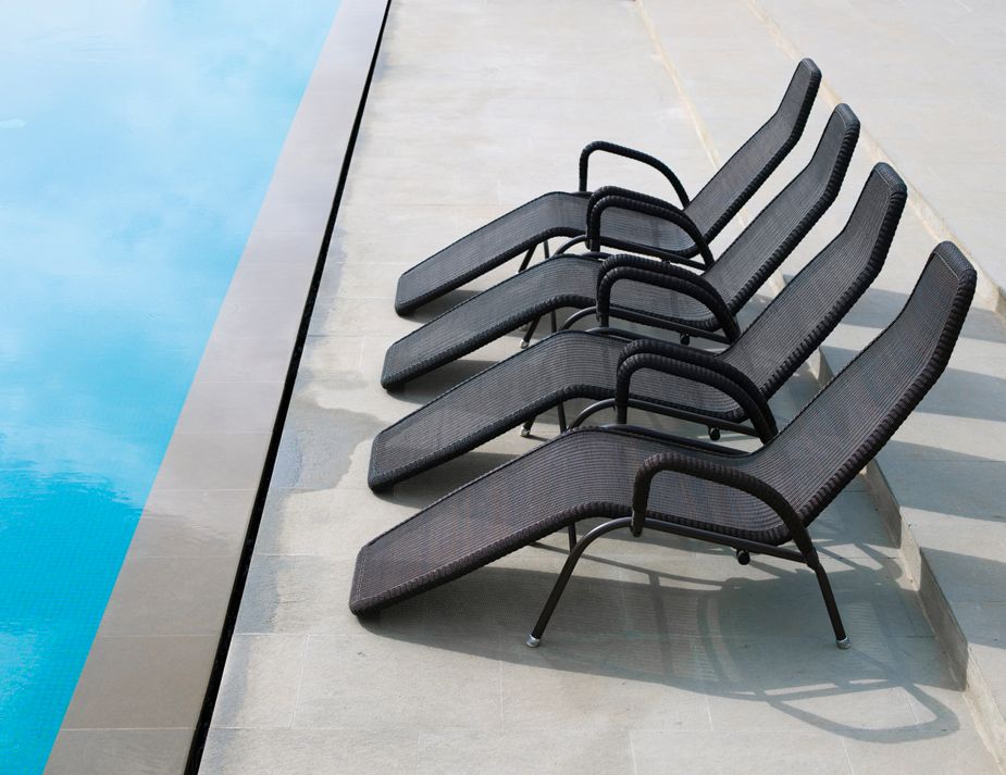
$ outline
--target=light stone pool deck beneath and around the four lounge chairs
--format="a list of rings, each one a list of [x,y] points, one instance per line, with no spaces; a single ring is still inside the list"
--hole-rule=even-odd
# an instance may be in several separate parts
[[[561,565],[562,536],[376,621],[348,611],[364,541],[534,443],[513,432],[388,496],[367,489],[377,430],[518,341],[386,393],[386,347],[447,303],[396,316],[398,274],[533,196],[574,187],[580,148],[593,139],[649,150],[697,189],[770,113],[793,67],[747,3],[701,5],[393,3],[203,773],[999,772],[965,676],[923,614],[902,536],[862,480],[812,529],[854,641],[846,652],[833,646],[806,568],[763,558],[742,567],[730,552],[663,538],[595,543],[537,650],[523,636]],[[809,157],[830,110],[819,102],[749,211]],[[836,233],[871,163],[858,154],[787,274]],[[666,189],[609,160],[592,165],[592,182]],[[934,241],[906,214],[877,290],[830,341],[825,368],[893,316]],[[991,459],[998,442],[958,449],[973,434],[949,397],[1001,386],[979,351],[1002,341],[997,317],[972,315],[947,387],[889,448],[891,471],[903,460],[932,464],[915,505],[959,514],[957,526],[994,513],[962,485],[966,463]],[[780,420],[816,389],[814,370],[803,370],[772,401]],[[555,432],[547,420],[537,433]],[[993,551],[972,565],[976,587],[996,582]],[[985,646],[997,649],[996,638]]]

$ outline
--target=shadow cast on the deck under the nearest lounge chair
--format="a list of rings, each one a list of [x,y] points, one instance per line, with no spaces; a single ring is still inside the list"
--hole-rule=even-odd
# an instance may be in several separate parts
[[[745,707],[733,712],[767,729],[796,722],[849,739],[893,742],[901,733],[937,738],[961,728],[961,718],[936,695],[961,691],[962,685],[943,664],[917,595],[895,583],[898,565],[882,553],[840,559],[828,551],[828,540],[821,542],[853,638],[853,649],[841,652],[807,568],[760,559],[742,568],[732,553],[691,541],[644,549],[643,555],[599,541],[574,574],[543,646],[531,650],[523,637],[564,555],[561,541],[548,543],[361,624],[381,637],[518,668],[659,684],[737,701]],[[555,687],[555,680],[545,685]],[[618,692],[632,702],[631,687]]]

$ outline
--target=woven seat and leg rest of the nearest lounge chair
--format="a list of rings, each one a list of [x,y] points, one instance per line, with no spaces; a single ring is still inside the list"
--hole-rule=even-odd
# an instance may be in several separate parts
[[[628,516],[636,471],[668,449],[676,448],[625,430],[583,428],[505,463],[367,543],[350,610],[380,610],[580,520]],[[765,543],[788,539],[758,499],[694,477],[660,477],[650,504],[654,518]]]

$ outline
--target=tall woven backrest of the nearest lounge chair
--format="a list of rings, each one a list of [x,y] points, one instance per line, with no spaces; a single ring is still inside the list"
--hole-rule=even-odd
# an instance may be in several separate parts
[[[809,523],[897,430],[946,367],[974,267],[941,242],[902,312],[772,441],[741,461]]]

